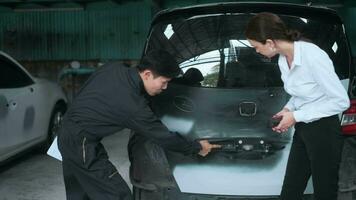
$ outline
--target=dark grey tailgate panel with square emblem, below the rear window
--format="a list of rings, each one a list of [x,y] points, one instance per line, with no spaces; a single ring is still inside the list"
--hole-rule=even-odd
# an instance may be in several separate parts
[[[170,130],[190,139],[270,137],[284,140],[289,134],[283,137],[274,134],[270,120],[288,99],[283,88],[219,89],[170,84],[154,99],[152,108]],[[244,110],[250,105],[250,110]],[[187,125],[178,124],[179,119],[186,120]],[[186,126],[191,126],[188,132]]]

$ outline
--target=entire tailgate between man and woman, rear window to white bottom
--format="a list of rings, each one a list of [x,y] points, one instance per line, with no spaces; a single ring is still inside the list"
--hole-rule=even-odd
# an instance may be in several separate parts
[[[273,132],[271,117],[283,108],[289,96],[283,89],[278,59],[257,54],[244,36],[248,20],[265,11],[278,14],[305,40],[324,49],[348,87],[350,50],[340,18],[332,10],[291,4],[226,3],[158,14],[145,52],[169,51],[185,74],[152,99],[152,109],[171,131],[222,145],[206,158],[166,154],[183,193],[280,193],[293,129],[285,134]],[[305,193],[312,193],[310,182]]]

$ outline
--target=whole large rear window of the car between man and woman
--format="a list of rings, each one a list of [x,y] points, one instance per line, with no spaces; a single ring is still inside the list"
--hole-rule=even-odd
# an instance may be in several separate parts
[[[146,52],[166,49],[176,56],[185,73],[173,80],[176,83],[219,88],[281,87],[278,57],[268,59],[256,53],[244,36],[251,16],[203,15],[157,23],[151,29]],[[295,16],[281,18],[329,54],[340,79],[349,77],[349,51],[342,25]]]

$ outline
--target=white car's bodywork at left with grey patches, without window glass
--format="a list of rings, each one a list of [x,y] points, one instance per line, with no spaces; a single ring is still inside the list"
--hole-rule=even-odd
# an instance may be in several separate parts
[[[43,143],[54,106],[66,103],[62,89],[55,83],[32,77],[18,62],[1,52],[1,59],[26,74],[32,83],[0,88],[0,161]]]

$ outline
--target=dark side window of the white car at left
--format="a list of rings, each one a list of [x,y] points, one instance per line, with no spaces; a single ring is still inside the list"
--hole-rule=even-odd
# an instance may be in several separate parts
[[[33,81],[14,63],[0,57],[0,88],[19,88],[31,85]]]

